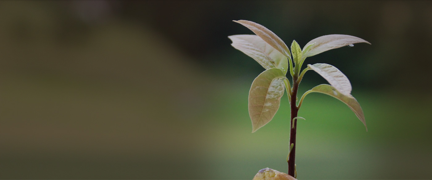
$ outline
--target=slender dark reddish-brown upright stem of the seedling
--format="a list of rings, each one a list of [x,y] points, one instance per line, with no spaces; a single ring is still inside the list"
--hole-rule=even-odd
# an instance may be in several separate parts
[[[294,121],[294,118],[297,117],[299,112],[299,108],[296,106],[297,102],[297,90],[299,89],[299,82],[297,82],[297,74],[292,77],[292,93],[291,93],[291,123],[290,123],[290,133],[289,133],[289,144],[294,144],[292,150],[289,153],[288,160],[288,174],[292,177],[295,177],[295,135],[297,133],[297,121]],[[294,121],[294,128],[291,127],[291,124]]]

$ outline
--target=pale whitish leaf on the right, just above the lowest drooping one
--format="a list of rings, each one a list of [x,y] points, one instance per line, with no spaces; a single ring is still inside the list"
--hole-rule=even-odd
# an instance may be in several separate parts
[[[348,78],[333,65],[324,63],[317,63],[314,65],[308,64],[308,68],[320,74],[330,85],[335,87],[343,95],[348,96],[351,94],[352,87]]]

